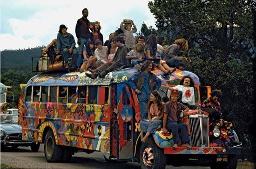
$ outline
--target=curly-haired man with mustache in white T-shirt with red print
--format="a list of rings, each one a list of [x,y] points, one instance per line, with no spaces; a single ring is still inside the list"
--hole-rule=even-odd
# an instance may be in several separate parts
[[[174,87],[166,85],[168,90],[167,96],[170,97],[170,90],[177,89],[179,91],[179,102],[189,107],[191,110],[197,109],[195,105],[194,79],[190,76],[182,77],[180,84]]]

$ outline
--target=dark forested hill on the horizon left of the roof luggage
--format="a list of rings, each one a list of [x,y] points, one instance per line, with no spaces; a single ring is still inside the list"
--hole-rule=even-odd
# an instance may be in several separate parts
[[[44,47],[45,46],[39,46],[29,49],[1,51],[1,74],[8,70],[31,71],[32,57],[40,56],[41,49]]]

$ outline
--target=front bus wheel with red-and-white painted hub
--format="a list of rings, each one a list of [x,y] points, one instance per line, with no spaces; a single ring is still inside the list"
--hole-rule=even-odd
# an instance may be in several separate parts
[[[141,169],[165,169],[166,156],[163,154],[163,149],[155,144],[151,136],[141,144],[140,165]]]

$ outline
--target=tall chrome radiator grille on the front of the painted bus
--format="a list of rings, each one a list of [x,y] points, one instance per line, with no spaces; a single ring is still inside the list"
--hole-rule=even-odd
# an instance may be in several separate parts
[[[193,147],[209,147],[209,117],[204,114],[189,116],[191,145]]]

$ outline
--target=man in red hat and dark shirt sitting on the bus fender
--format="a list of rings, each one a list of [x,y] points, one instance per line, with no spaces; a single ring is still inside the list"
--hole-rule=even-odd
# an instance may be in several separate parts
[[[172,89],[170,95],[170,101],[164,105],[163,115],[163,132],[167,133],[167,130],[172,131],[174,139],[174,148],[178,147],[178,143],[182,143],[182,147],[190,148],[189,145],[189,132],[187,130],[187,124],[182,123],[180,120],[181,112],[186,116],[189,108],[178,101],[178,90]]]

